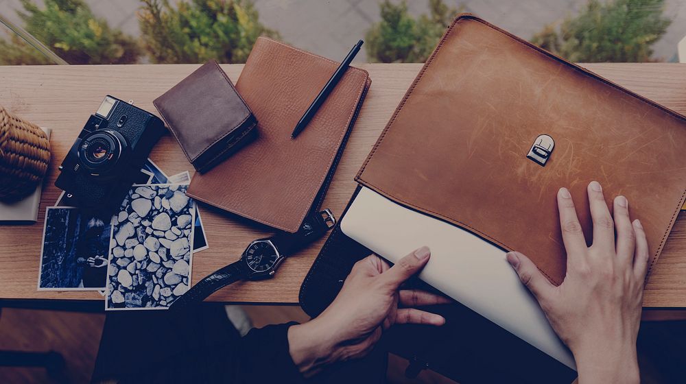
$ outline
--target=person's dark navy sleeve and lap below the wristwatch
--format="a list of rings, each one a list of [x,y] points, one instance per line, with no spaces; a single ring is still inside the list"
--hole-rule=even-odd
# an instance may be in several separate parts
[[[240,337],[218,305],[186,313],[107,313],[93,381],[300,383],[288,346],[293,324],[255,328]]]

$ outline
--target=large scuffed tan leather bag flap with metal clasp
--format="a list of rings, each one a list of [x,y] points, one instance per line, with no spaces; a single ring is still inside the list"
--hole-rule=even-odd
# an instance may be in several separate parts
[[[545,166],[527,157],[534,144]],[[655,263],[685,200],[685,148],[686,117],[463,14],[356,180],[527,254],[559,284],[566,256],[558,189],[570,189],[589,241],[587,184],[598,180],[610,207],[625,195]]]

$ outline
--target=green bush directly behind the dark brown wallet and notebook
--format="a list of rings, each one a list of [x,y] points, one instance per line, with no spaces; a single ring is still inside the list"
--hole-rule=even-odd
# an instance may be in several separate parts
[[[279,34],[258,21],[250,0],[143,0],[143,43],[153,62],[245,62],[261,35]]]

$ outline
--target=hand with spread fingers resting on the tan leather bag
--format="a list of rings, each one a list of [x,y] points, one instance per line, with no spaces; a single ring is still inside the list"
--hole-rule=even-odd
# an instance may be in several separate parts
[[[579,383],[638,383],[636,338],[641,322],[648,243],[628,201],[615,197],[614,222],[598,182],[588,187],[593,245],[587,246],[567,189],[558,191],[567,276],[552,285],[519,252],[507,254],[560,339],[576,359]],[[615,242],[615,230],[617,241]]]

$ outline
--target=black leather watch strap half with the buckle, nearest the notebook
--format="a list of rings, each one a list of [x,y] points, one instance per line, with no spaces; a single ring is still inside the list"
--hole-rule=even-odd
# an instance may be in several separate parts
[[[319,239],[327,230],[335,225],[335,217],[328,209],[310,213],[300,224],[298,232],[279,232],[270,240],[279,253],[287,256],[305,248],[309,243]]]

